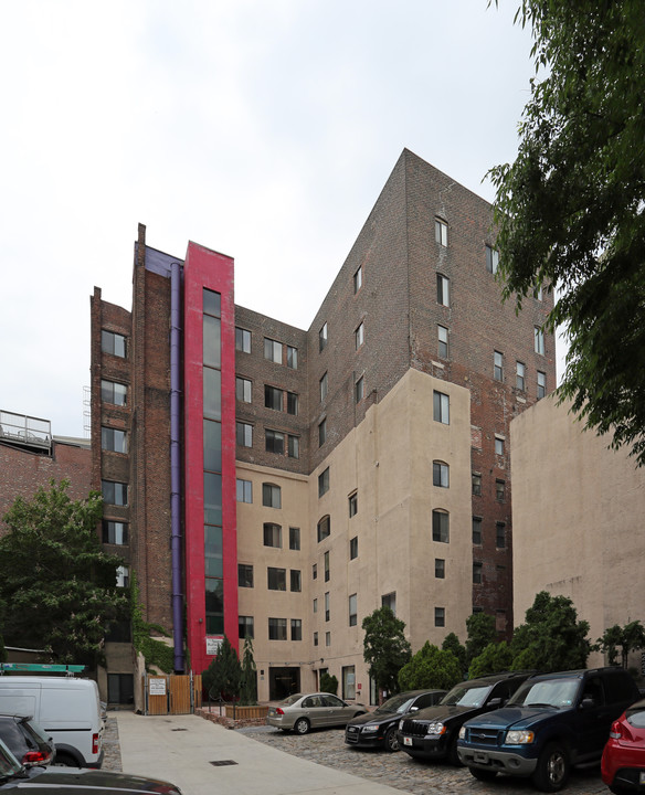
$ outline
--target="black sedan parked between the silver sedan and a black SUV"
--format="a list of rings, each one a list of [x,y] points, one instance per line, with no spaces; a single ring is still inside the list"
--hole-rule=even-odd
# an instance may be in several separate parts
[[[399,751],[399,721],[410,712],[437,704],[445,690],[409,690],[392,696],[373,712],[352,718],[345,727],[345,742],[356,748],[384,746]]]

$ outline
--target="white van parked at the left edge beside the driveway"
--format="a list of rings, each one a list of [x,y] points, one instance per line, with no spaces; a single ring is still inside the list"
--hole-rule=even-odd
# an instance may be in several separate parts
[[[104,723],[92,679],[0,676],[0,712],[32,717],[56,744],[54,764],[103,764]]]

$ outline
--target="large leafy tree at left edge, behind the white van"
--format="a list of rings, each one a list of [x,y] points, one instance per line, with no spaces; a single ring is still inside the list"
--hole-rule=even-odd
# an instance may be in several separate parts
[[[56,662],[102,661],[109,626],[129,615],[116,585],[120,558],[106,554],[96,534],[102,497],[72,500],[68,481],[19,497],[4,515],[0,539],[0,600],[4,643],[44,648]]]

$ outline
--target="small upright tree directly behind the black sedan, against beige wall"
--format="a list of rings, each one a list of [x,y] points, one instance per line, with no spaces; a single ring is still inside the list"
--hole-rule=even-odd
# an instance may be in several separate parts
[[[398,692],[399,671],[410,660],[410,644],[403,635],[405,623],[387,605],[362,621],[363,659],[379,690]]]

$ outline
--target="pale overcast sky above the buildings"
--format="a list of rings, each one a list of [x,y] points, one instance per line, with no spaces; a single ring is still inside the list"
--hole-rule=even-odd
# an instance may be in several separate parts
[[[137,224],[308,328],[403,148],[491,201],[533,75],[519,0],[3,0],[0,410],[83,436],[89,296]]]

